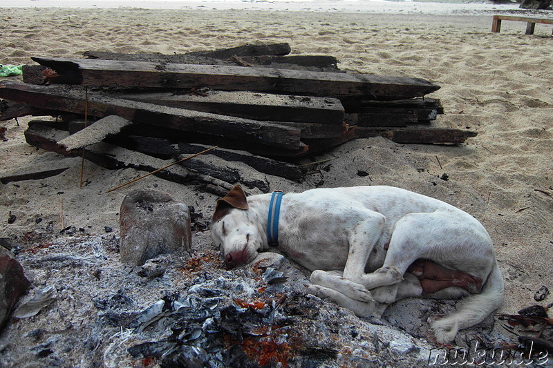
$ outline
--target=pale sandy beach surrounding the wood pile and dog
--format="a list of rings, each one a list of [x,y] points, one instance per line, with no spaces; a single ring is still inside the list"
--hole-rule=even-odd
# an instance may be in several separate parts
[[[1,8],[0,64],[28,64],[32,56],[80,57],[86,50],[172,54],[288,42],[294,55],[334,55],[339,68],[350,72],[428,79],[441,86],[430,96],[445,109],[438,124],[470,127],[476,137],[458,146],[357,139],[315,157],[332,158],[328,172],[301,184],[268,177],[271,189],[302,191],[324,180],[328,187],[385,184],[436,197],[471,213],[489,231],[505,278],[501,313],[536,304],[534,293],[542,285],[553,287],[551,26],[537,25],[535,35],[524,35],[525,23],[504,22],[502,32],[491,33],[492,9],[378,14],[205,8]],[[60,205],[66,226],[98,235],[105,234],[104,226],[117,231],[122,198],[135,186],[104,191],[141,173],[88,163],[87,185],[79,189],[79,159],[26,144],[28,120],[0,122],[8,128],[0,142],[0,173],[60,160],[71,168],[44,180],[0,184],[0,237],[28,248],[36,239],[62,236],[56,227]],[[359,170],[369,175],[360,177]],[[169,191],[207,217],[216,200],[155,177],[140,186]],[[17,217],[12,224],[10,214]],[[196,234],[192,246],[209,242],[209,234]],[[32,288],[44,287],[39,276],[30,273]],[[550,302],[552,296],[538,304]]]

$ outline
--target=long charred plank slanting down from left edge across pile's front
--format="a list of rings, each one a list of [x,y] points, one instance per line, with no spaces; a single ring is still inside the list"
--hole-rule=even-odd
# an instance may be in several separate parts
[[[290,150],[301,146],[301,131],[281,124],[116,99],[93,91],[88,93],[88,101],[85,101],[83,90],[59,87],[2,81],[0,97],[40,108],[79,114],[87,110],[88,115],[95,117],[118,115],[134,123],[218,135]]]

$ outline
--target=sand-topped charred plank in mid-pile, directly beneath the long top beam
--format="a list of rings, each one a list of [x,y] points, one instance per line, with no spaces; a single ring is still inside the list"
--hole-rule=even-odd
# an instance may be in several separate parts
[[[312,122],[341,124],[344,107],[339,99],[295,95],[274,95],[247,91],[205,90],[201,93],[178,94],[120,93],[122,99],[185,108],[247,119],[273,122]]]

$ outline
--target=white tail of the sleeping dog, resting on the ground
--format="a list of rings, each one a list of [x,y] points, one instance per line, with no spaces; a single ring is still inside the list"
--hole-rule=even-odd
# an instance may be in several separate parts
[[[450,342],[455,339],[460,329],[466,329],[482,322],[489,316],[489,313],[495,311],[501,305],[503,293],[503,278],[496,261],[479,294],[462,300],[460,302],[462,304],[458,306],[456,313],[433,322],[432,329],[436,341]]]

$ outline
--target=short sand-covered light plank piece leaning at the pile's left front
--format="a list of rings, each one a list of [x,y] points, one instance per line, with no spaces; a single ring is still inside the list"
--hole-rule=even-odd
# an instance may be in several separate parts
[[[109,135],[117,134],[122,128],[131,124],[133,123],[127,119],[117,115],[109,115],[57,143],[65,146],[70,151],[83,148],[102,142]]]

